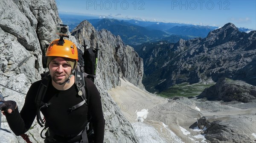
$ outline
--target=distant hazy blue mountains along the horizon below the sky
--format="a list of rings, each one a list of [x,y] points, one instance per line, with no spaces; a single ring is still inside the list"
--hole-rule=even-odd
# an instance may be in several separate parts
[[[145,42],[157,42],[166,40],[176,43],[180,39],[205,38],[207,34],[217,29],[216,26],[201,26],[183,23],[149,22],[139,20],[117,20],[108,18],[96,18],[93,16],[73,15],[60,13],[64,24],[69,25],[72,31],[81,21],[88,20],[96,30],[106,29],[114,35],[119,35],[125,44],[136,46]],[[250,31],[247,28],[239,28],[239,31]]]

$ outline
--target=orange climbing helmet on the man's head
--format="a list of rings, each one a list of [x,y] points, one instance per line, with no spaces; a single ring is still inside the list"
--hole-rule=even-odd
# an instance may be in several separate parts
[[[75,59],[76,61],[78,61],[78,52],[76,45],[67,39],[55,39],[54,41],[52,41],[47,48],[46,56],[59,56],[69,59]]]

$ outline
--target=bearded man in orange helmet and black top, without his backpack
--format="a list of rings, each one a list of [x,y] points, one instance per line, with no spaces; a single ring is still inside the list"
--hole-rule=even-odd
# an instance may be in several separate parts
[[[42,107],[48,130],[45,133],[45,143],[85,143],[85,127],[87,115],[91,116],[94,129],[94,143],[103,143],[105,120],[99,91],[90,79],[84,78],[86,88],[89,89],[87,103],[70,111],[70,107],[83,101],[75,85],[74,70],[77,66],[78,52],[76,45],[64,39],[62,44],[54,40],[47,48],[47,67],[51,82],[49,82],[43,102],[47,107]],[[31,85],[26,95],[25,103],[20,113],[15,101],[3,101],[0,107],[5,110],[6,119],[15,135],[21,135],[29,130],[35,116],[37,107],[35,97],[40,81]],[[88,106],[87,106],[88,105]]]

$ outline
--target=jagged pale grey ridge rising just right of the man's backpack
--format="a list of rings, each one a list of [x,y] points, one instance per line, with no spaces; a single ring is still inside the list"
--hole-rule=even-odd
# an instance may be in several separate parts
[[[86,44],[87,48],[96,48],[98,45],[100,49],[96,85],[99,87],[103,104],[106,105],[104,107],[107,124],[105,141],[137,142],[133,129],[128,128],[131,124],[122,116],[119,108],[112,106],[116,104],[106,91],[120,85],[119,77],[144,89],[143,60],[133,48],[125,46],[119,36],[116,37],[104,29],[96,31],[88,21],[81,22],[71,34],[78,39],[80,45]],[[126,127],[122,127],[123,125]]]

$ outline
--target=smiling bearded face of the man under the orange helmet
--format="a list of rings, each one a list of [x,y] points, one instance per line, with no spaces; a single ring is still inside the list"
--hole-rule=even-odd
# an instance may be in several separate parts
[[[71,71],[70,64],[61,57],[57,57],[49,63],[49,72],[56,84],[64,84],[68,80]]]

